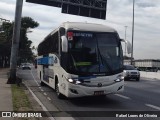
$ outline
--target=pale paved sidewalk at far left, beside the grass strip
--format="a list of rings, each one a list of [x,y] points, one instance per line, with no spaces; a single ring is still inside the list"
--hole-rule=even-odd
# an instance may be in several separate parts
[[[8,68],[0,68],[0,114],[3,111],[13,111],[11,85],[6,84],[8,71]],[[0,120],[12,120],[12,118],[0,117]]]

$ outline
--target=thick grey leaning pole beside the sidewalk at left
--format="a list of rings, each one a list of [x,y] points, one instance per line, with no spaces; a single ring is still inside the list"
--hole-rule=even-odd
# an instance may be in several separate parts
[[[17,68],[17,56],[19,49],[19,38],[21,29],[21,14],[22,14],[23,0],[16,1],[15,22],[13,29],[11,59],[10,59],[10,77],[7,81],[8,84],[16,83],[16,68]]]

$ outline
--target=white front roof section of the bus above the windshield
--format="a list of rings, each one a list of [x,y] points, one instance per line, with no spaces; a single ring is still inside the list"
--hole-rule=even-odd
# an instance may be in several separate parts
[[[87,22],[64,22],[60,27],[64,27],[67,30],[116,32],[116,30],[111,27],[95,23],[87,23]]]

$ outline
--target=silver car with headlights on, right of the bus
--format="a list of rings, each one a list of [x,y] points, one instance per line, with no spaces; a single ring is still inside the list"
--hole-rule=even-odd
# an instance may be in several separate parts
[[[133,65],[124,65],[124,80],[140,80],[140,72]]]

